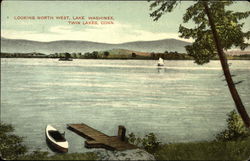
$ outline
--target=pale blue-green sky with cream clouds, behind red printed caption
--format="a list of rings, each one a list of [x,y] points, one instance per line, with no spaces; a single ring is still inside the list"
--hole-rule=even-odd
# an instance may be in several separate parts
[[[83,40],[105,43],[160,40],[179,38],[179,25],[192,1],[182,1],[174,12],[165,14],[158,21],[149,16],[147,1],[21,1],[4,0],[1,4],[1,36],[10,39],[35,41]],[[231,9],[250,11],[249,2],[236,2]],[[20,19],[34,16],[36,19]],[[37,16],[53,19],[38,20]],[[70,20],[58,20],[56,16],[69,16]],[[84,20],[73,20],[84,16]],[[113,17],[112,24],[86,23],[88,17]],[[81,24],[70,24],[80,21]],[[107,22],[106,21],[106,22]],[[110,22],[112,21],[112,22]],[[250,18],[245,20],[244,30],[250,29]],[[186,24],[192,27],[192,23]]]

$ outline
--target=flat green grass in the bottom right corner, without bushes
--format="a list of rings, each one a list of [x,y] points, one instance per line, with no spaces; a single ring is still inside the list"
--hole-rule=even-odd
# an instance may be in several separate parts
[[[212,141],[161,145],[156,160],[247,160],[250,138],[241,141]]]

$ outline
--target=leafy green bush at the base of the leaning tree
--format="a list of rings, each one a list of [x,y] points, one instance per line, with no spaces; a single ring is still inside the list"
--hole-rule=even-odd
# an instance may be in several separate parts
[[[228,114],[227,129],[216,136],[216,140],[242,140],[250,136],[250,130],[245,127],[240,115],[235,110]]]

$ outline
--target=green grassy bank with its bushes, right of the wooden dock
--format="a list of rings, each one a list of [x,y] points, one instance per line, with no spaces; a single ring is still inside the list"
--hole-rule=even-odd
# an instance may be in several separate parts
[[[227,114],[227,128],[213,141],[161,144],[150,133],[144,138],[132,133],[128,141],[152,153],[156,160],[248,160],[250,159],[250,129],[233,110]]]

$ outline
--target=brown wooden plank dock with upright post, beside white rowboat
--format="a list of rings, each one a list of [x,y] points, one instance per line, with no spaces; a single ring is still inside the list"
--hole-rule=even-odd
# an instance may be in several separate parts
[[[85,141],[86,148],[105,148],[119,151],[137,148],[124,141],[126,129],[123,126],[119,126],[118,136],[108,136],[84,123],[68,124],[67,128],[87,139]]]

